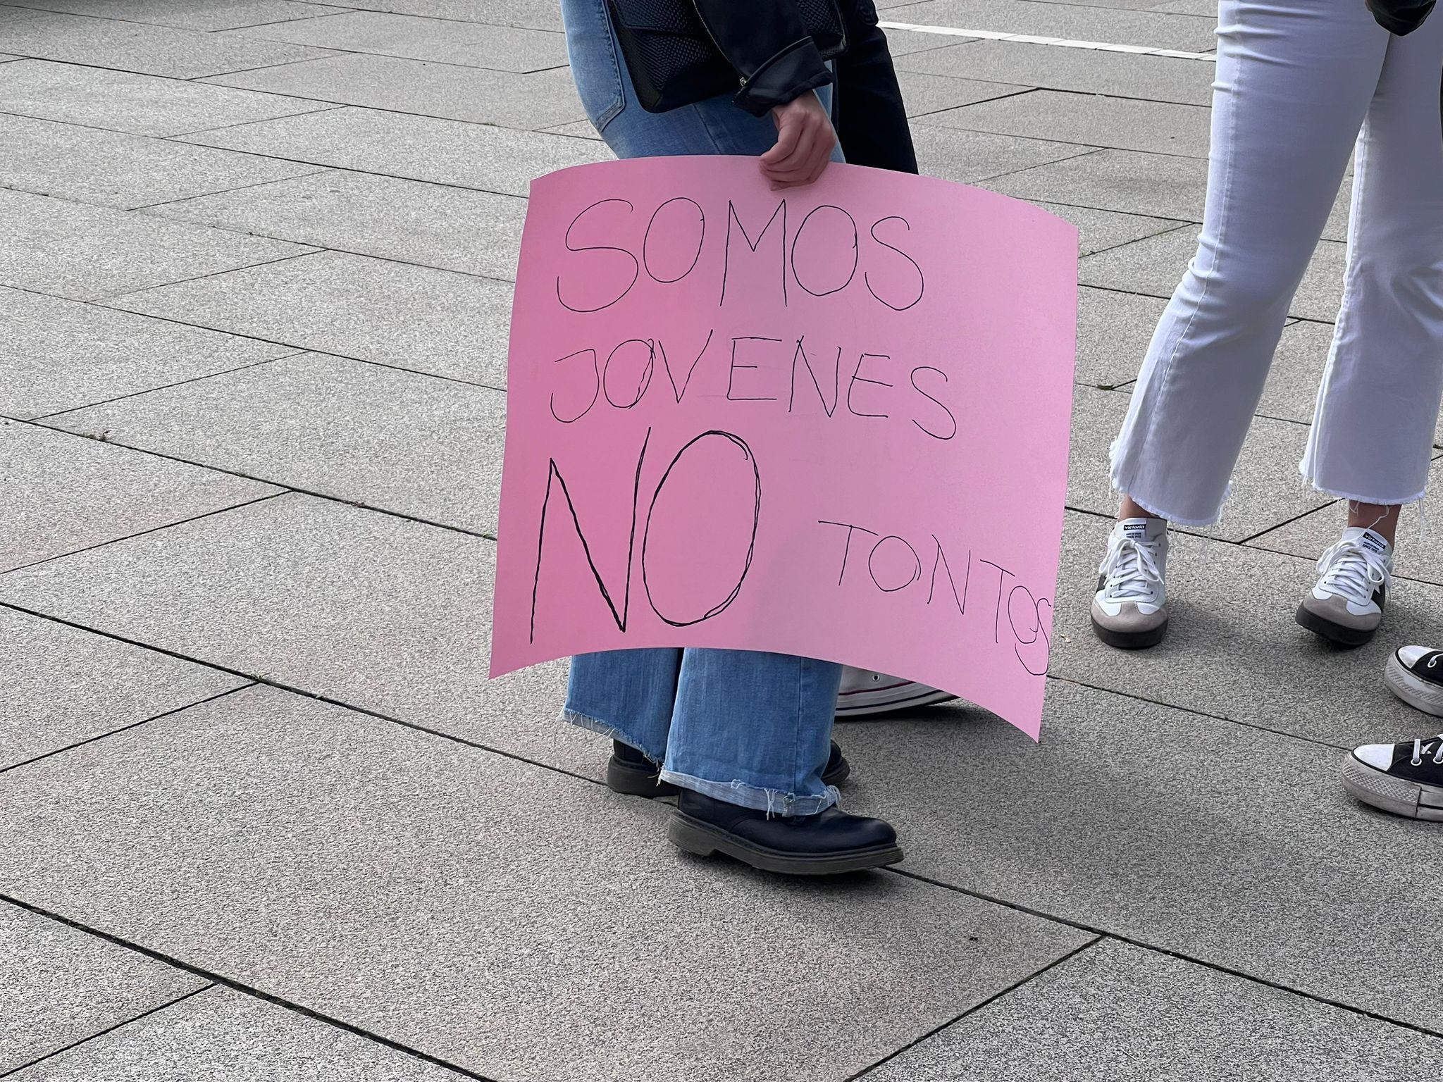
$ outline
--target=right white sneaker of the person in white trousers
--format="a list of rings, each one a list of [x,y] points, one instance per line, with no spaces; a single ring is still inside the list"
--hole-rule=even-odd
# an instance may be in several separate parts
[[[1297,622],[1342,646],[1362,646],[1378,625],[1392,586],[1392,545],[1381,534],[1348,527],[1317,558],[1317,584],[1297,606]]]

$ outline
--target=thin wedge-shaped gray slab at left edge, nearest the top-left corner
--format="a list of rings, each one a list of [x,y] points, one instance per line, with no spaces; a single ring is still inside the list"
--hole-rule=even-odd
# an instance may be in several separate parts
[[[173,79],[195,79],[328,55],[303,45],[222,38],[22,7],[0,9],[0,39],[7,49],[26,56]]]

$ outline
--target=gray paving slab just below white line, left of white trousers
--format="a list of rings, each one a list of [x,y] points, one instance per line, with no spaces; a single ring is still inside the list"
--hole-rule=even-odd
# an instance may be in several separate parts
[[[929,49],[906,56],[899,63],[909,72],[1020,82],[1026,87],[1172,101],[1179,105],[1211,105],[1212,79],[1218,74],[1216,66],[1206,61],[1055,49],[1019,42],[975,42],[962,48]]]

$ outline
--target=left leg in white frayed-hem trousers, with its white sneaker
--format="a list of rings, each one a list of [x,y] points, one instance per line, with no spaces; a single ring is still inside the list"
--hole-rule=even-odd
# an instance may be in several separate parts
[[[1118,646],[1166,629],[1165,521],[1221,514],[1388,50],[1352,0],[1222,0],[1218,23],[1202,235],[1113,447],[1124,499],[1092,620]]]

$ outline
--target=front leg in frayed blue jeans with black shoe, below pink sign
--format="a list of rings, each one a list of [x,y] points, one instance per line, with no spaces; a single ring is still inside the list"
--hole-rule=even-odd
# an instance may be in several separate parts
[[[791,874],[902,860],[896,832],[838,811],[823,775],[840,678],[825,661],[685,651],[661,772],[680,786],[671,840]]]

